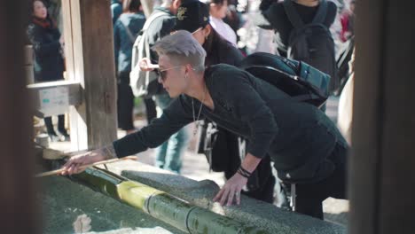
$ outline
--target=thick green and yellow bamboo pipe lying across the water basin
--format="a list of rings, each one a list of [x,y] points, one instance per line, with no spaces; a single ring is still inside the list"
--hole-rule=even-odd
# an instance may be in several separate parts
[[[215,214],[205,208],[196,207],[164,191],[144,183],[130,181],[101,168],[90,168],[85,173],[74,175],[73,178],[184,232],[192,234],[270,233],[230,217]]]

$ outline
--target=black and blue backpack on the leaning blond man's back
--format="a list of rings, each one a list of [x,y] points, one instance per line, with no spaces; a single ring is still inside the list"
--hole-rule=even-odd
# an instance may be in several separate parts
[[[295,100],[320,107],[328,98],[330,75],[302,61],[256,52],[241,61],[239,68],[276,86]]]

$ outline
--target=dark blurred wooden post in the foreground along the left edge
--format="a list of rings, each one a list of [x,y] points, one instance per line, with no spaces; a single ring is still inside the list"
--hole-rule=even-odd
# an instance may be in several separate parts
[[[0,7],[0,232],[40,233],[35,206],[32,115],[23,49],[27,1]],[[13,19],[13,20],[11,20]]]

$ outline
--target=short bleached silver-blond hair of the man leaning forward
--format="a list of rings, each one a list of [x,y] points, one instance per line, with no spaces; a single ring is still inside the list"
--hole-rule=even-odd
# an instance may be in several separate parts
[[[152,49],[159,56],[168,56],[176,66],[190,64],[197,72],[205,70],[206,51],[188,31],[178,30],[166,35]]]

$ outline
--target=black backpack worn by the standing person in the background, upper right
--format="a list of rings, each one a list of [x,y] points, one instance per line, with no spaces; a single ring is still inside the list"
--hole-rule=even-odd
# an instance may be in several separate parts
[[[285,0],[283,5],[288,20],[294,27],[288,38],[287,57],[306,62],[329,74],[332,77],[329,85],[331,94],[338,88],[339,82],[333,37],[329,28],[323,23],[328,11],[326,0],[320,1],[316,16],[309,24],[304,24],[301,20],[292,0]]]

